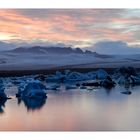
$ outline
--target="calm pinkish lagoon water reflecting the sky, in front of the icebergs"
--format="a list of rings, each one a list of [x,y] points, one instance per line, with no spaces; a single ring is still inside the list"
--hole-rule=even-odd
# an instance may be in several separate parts
[[[0,102],[0,130],[140,130],[140,87],[48,91],[42,101]]]

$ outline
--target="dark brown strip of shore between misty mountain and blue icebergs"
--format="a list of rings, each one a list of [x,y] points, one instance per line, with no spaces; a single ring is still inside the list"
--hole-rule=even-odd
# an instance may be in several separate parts
[[[108,73],[112,73],[116,68],[66,68],[66,67],[58,67],[58,68],[50,68],[50,69],[36,69],[36,70],[0,70],[0,77],[15,77],[15,76],[28,76],[28,75],[37,75],[37,74],[55,74],[56,71],[77,71],[81,73],[96,71],[98,69],[104,69]],[[140,68],[135,68],[137,71],[140,71]]]

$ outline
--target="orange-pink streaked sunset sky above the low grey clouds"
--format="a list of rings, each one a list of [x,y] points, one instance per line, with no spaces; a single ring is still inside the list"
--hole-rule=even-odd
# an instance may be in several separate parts
[[[0,41],[140,45],[139,9],[1,9]],[[125,45],[126,45],[125,44]]]

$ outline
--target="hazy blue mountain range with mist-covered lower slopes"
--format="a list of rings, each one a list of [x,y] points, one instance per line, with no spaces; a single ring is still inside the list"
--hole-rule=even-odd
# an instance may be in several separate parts
[[[71,47],[20,47],[0,52],[0,70],[140,66],[140,55],[102,55]]]

